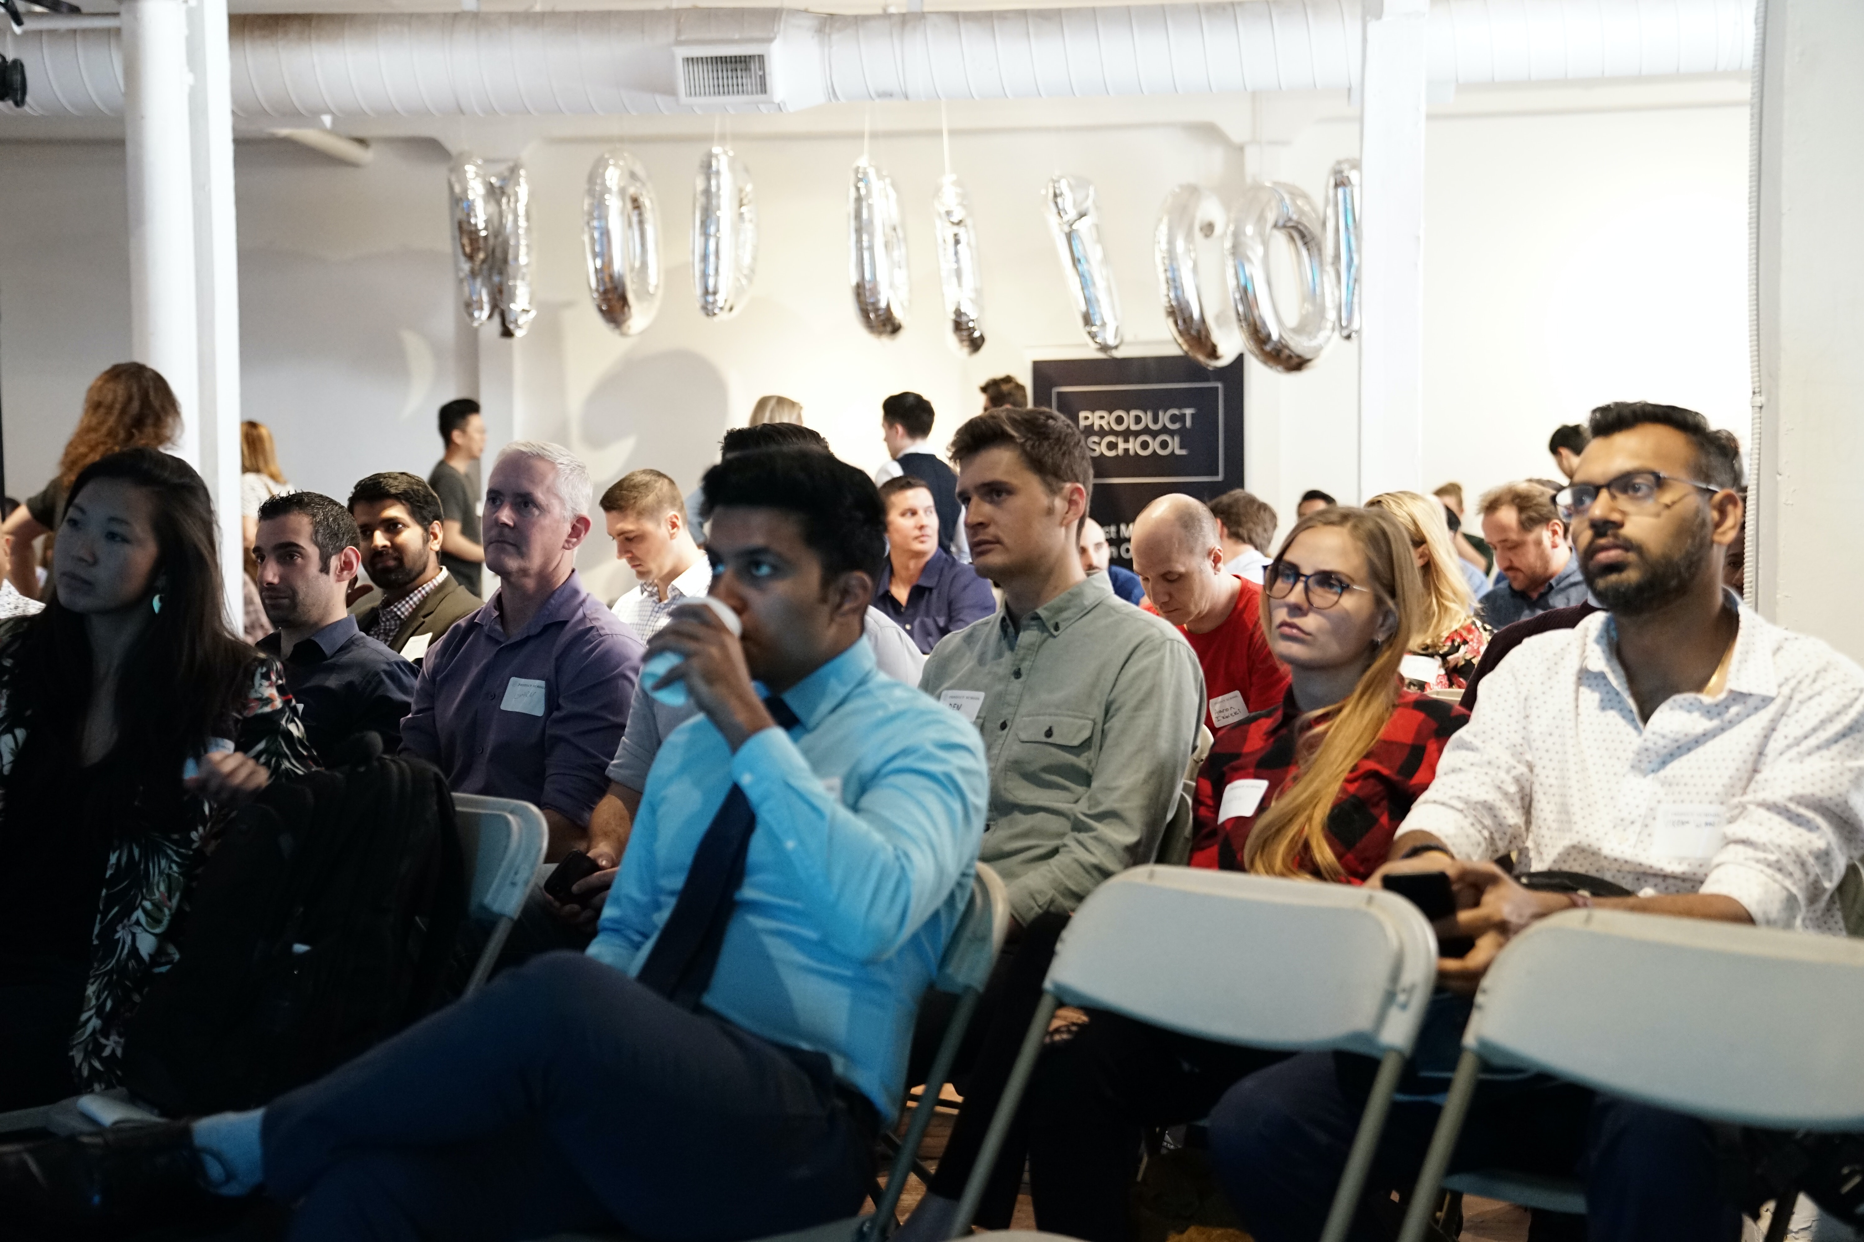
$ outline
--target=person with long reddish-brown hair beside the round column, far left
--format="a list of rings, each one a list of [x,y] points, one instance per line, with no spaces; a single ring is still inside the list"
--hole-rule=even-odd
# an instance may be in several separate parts
[[[13,587],[28,600],[52,594],[39,590],[39,559],[32,555],[32,542],[58,529],[65,495],[86,466],[123,449],[162,449],[179,434],[181,404],[162,372],[142,363],[117,363],[91,380],[78,430],[71,432],[58,460],[58,475],[0,523],[0,534],[13,536]]]

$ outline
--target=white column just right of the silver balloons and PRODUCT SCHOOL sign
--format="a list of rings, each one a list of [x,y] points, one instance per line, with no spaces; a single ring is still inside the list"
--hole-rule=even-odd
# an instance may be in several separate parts
[[[1430,0],[1366,0],[1361,80],[1359,499],[1424,477]]]

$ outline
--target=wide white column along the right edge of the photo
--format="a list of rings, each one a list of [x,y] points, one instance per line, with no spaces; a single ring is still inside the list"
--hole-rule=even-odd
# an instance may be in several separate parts
[[[1761,60],[1756,603],[1864,661],[1864,4],[1765,0]]]

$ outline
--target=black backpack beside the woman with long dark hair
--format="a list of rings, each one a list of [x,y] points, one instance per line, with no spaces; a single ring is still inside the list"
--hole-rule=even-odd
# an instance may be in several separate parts
[[[466,918],[453,797],[416,758],[274,780],[201,868],[125,1030],[164,1114],[255,1108],[431,1011]]]

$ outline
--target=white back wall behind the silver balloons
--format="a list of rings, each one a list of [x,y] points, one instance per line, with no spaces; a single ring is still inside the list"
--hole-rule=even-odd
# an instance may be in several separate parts
[[[1560,89],[1558,108],[1506,88],[1465,89],[1432,115],[1432,482],[1458,479],[1474,492],[1545,475],[1551,428],[1610,398],[1693,404],[1745,432],[1745,106],[1653,108],[1642,95],[1624,102],[1610,93],[1618,88]],[[1213,101],[1212,117],[1228,121],[1234,108],[1247,101]],[[1314,194],[1333,160],[1357,153],[1344,101],[1318,112],[1329,110],[1331,119],[1301,121],[1271,143],[1273,175]],[[854,134],[805,132],[809,115],[781,119],[794,134],[772,119],[734,143],[757,184],[762,250],[751,304],[725,322],[697,313],[686,257],[706,140],[623,143],[660,196],[667,279],[660,318],[632,341],[596,318],[582,270],[583,177],[604,143],[537,142],[524,153],[541,313],[514,348],[514,434],[576,447],[598,488],[639,466],[690,486],[725,426],[742,423],[759,395],[785,393],[837,452],[874,466],[880,398],[911,387],[941,412],[943,441],[977,408],[984,378],[1027,376],[1031,358],[1081,346],[1042,218],[1051,173],[1100,188],[1128,339],[1143,352],[1146,343],[1169,348],[1150,253],[1159,201],[1180,181],[1234,192],[1245,169],[1243,149],[1208,121],[954,132],[954,171],[979,222],[990,339],[967,359],[939,331],[928,207],[943,171],[936,130],[872,140],[874,162],[898,186],[913,259],[910,326],[876,341],[856,322],[846,287],[857,125]],[[360,169],[276,142],[240,142],[237,155],[246,415],[274,426],[295,482],[339,497],[373,469],[425,475],[438,452],[432,412],[455,395],[447,156],[425,140],[375,149]],[[56,462],[84,384],[129,344],[121,149],[11,142],[0,143],[0,168],[9,222],[0,229],[0,400],[7,482],[22,495]],[[1251,400],[1249,484],[1284,525],[1305,488],[1353,495],[1353,346],[1336,343],[1297,376],[1253,369]],[[628,581],[600,540],[583,564],[606,594]]]

